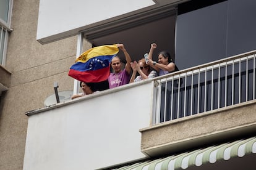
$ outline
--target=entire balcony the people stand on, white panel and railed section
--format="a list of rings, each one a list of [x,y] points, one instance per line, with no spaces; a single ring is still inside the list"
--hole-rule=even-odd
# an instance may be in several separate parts
[[[23,169],[101,169],[254,134],[255,54],[28,111]]]

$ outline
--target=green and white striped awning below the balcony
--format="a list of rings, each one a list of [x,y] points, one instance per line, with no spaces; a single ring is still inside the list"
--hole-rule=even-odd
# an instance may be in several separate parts
[[[157,160],[135,163],[118,170],[149,170],[149,169],[186,169],[190,166],[201,166],[205,163],[215,163],[219,160],[229,160],[233,157],[242,157],[256,153],[256,137],[237,140],[212,147],[201,148],[192,152],[172,155]]]

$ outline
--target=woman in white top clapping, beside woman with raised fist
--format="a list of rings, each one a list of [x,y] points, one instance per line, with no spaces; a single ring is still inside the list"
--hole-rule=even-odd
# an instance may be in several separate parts
[[[132,67],[132,77],[130,78],[130,83],[141,81],[142,79],[154,78],[156,77],[156,71],[150,70],[150,66],[146,64],[145,59],[140,59],[139,62],[131,62],[130,67]],[[139,73],[139,76],[136,74]]]

